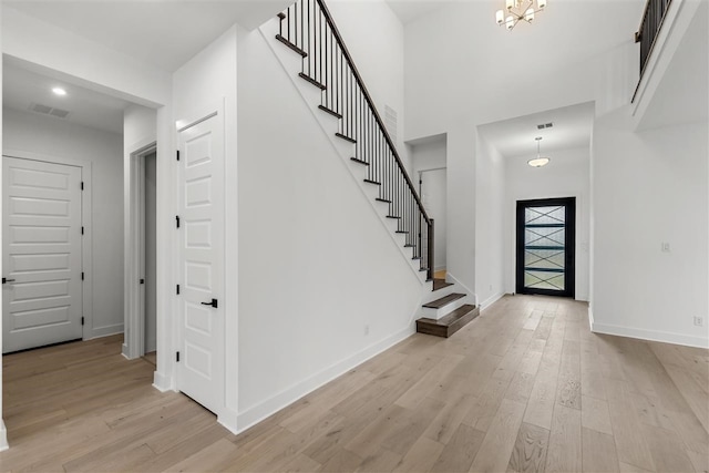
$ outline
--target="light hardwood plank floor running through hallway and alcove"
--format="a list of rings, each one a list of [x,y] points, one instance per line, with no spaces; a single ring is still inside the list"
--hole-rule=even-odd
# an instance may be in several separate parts
[[[240,435],[151,387],[121,337],[3,357],[6,471],[709,470],[709,352],[590,333],[508,296],[415,335]]]

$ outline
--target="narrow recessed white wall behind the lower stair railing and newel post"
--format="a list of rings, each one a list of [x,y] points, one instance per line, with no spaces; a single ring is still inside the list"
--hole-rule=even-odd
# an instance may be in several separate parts
[[[411,156],[411,181],[419,189],[419,172],[423,173],[424,195],[420,195],[429,217],[434,219],[435,270],[446,267],[448,247],[448,169],[445,168],[445,136],[431,142],[409,146]],[[432,171],[436,169],[436,171]]]

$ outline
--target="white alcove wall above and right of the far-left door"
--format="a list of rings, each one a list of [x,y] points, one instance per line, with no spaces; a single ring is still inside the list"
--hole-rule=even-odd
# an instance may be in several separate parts
[[[6,109],[3,152],[92,165],[94,336],[123,331],[123,138],[61,120]]]

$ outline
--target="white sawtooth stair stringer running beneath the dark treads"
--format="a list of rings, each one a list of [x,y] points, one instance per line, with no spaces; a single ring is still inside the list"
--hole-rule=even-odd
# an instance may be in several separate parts
[[[352,176],[357,182],[359,189],[367,197],[367,202],[369,202],[373,212],[379,217],[379,220],[384,228],[387,228],[387,234],[391,237],[397,248],[399,248],[402,257],[407,259],[409,267],[417,275],[419,281],[421,281],[423,291],[432,291],[433,285],[431,281],[427,281],[427,273],[420,270],[419,260],[412,259],[413,248],[404,247],[405,237],[395,233],[397,222],[391,218],[387,218],[387,215],[389,214],[389,204],[376,200],[378,197],[378,186],[364,182],[364,178],[367,177],[367,166],[350,160],[350,157],[354,156],[354,144],[346,142],[335,135],[335,133],[339,131],[340,119],[318,109],[318,105],[321,103],[320,90],[298,76],[298,71],[301,66],[300,55],[296,54],[294,51],[289,50],[276,40],[278,19],[274,18],[273,20],[264,23],[259,27],[258,31],[264,37],[264,40],[270,48],[279,64],[282,66],[296,90],[308,105],[308,110],[310,110],[310,113],[315,116],[316,122],[320,125],[320,128],[332,144],[332,148],[340,157],[340,162],[349,169],[350,176]],[[414,320],[415,318],[412,317],[411,323],[413,323]]]

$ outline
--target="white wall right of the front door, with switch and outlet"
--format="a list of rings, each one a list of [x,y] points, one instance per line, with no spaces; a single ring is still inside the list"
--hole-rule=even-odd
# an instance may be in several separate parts
[[[707,123],[630,130],[620,109],[594,131],[594,330],[709,347]]]

